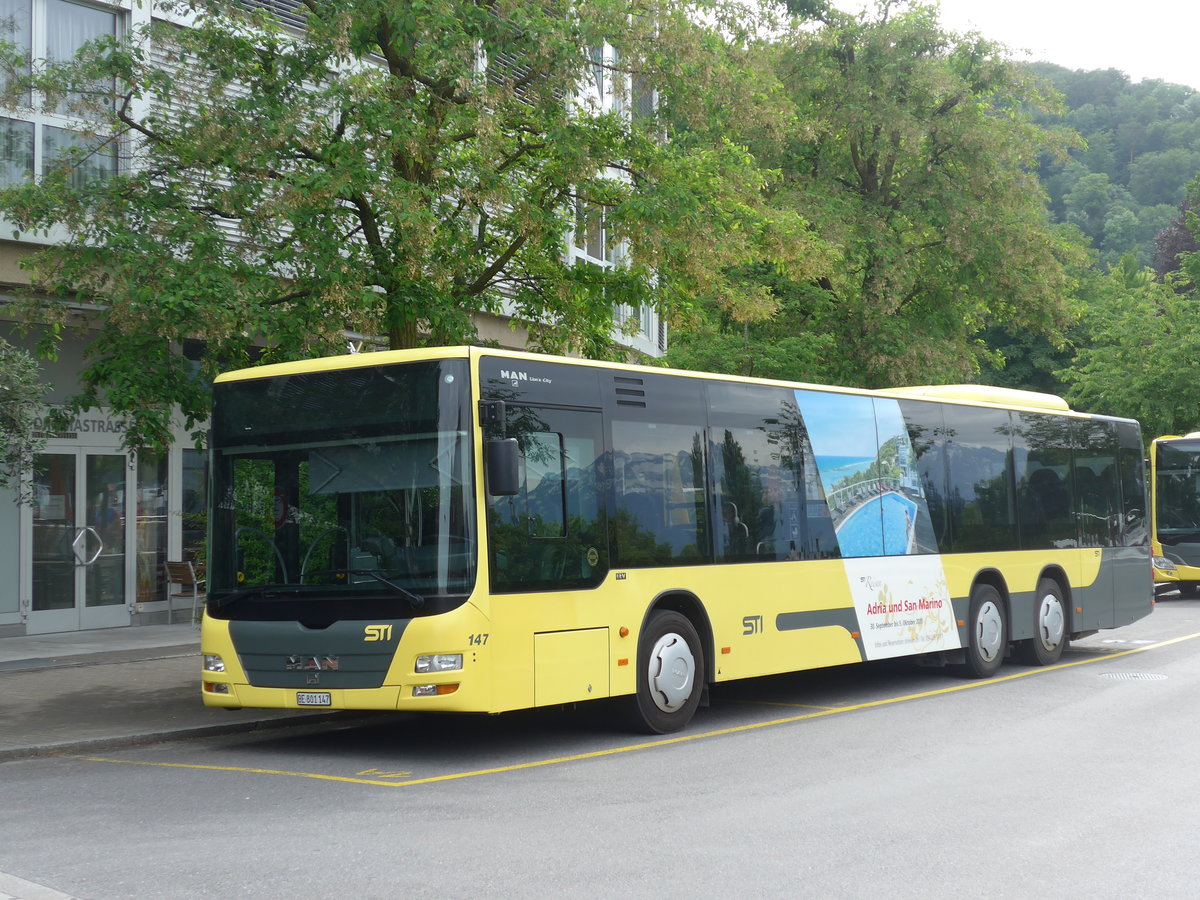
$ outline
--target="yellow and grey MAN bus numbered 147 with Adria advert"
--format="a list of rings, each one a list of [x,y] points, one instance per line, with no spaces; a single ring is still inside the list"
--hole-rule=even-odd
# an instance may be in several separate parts
[[[209,706],[502,713],[898,656],[988,677],[1153,608],[1138,424],[458,347],[221,376]]]

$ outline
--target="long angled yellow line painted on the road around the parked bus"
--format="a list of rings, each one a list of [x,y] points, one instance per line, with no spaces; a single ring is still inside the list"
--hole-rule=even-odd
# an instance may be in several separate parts
[[[464,778],[479,778],[480,775],[499,775],[506,772],[522,772],[524,769],[536,769],[542,766],[560,766],[568,762],[578,762],[581,760],[596,760],[604,756],[616,756],[617,754],[628,754],[635,750],[652,750],[659,746],[670,746],[672,744],[685,744],[692,740],[706,740],[708,738],[722,737],[725,734],[738,734],[742,732],[755,731],[756,728],[770,728],[778,725],[791,725],[792,722],[805,721],[808,719],[822,719],[828,715],[840,715],[842,713],[852,713],[859,709],[875,709],[878,707],[892,706],[894,703],[906,703],[913,700],[924,700],[925,697],[936,697],[943,694],[956,694],[959,691],[973,690],[976,688],[986,688],[994,684],[1003,684],[1004,682],[1013,682],[1018,678],[1028,678],[1030,676],[1044,674],[1046,672],[1054,672],[1061,668],[1075,668],[1076,666],[1086,666],[1092,662],[1099,662],[1102,660],[1112,660],[1118,656],[1129,656],[1135,653],[1145,653],[1146,650],[1157,650],[1160,647],[1170,647],[1175,643],[1182,643],[1183,641],[1192,641],[1200,637],[1200,631],[1184,635],[1182,637],[1172,637],[1168,641],[1159,641],[1157,643],[1146,644],[1144,647],[1134,647],[1128,650],[1118,650],[1117,653],[1104,653],[1088,659],[1075,660],[1073,662],[1058,662],[1054,666],[1044,666],[1040,668],[1027,668],[1021,672],[1014,672],[1007,676],[1000,676],[996,678],[989,678],[986,680],[979,682],[966,682],[964,684],[955,684],[949,688],[938,688],[930,691],[918,691],[917,694],[905,694],[899,697],[887,697],[884,700],[871,700],[865,703],[853,703],[846,707],[817,707],[812,712],[799,713],[797,715],[784,716],[782,719],[769,719],[762,722],[750,722],[749,725],[733,725],[728,728],[715,728],[713,731],[697,732],[695,734],[678,734],[671,738],[659,738],[656,740],[647,740],[640,744],[630,744],[629,746],[614,746],[607,750],[592,750],[586,754],[572,754],[570,756],[553,756],[547,760],[535,760],[534,762],[521,762],[512,766],[497,766],[488,769],[473,769],[470,772],[455,772],[449,775],[432,775],[430,778],[414,778],[407,781],[379,781],[377,779],[365,779],[365,778],[350,778],[346,775],[322,775],[314,772],[288,772],[287,769],[258,769],[258,768],[245,768],[240,766],[204,766],[198,763],[184,763],[184,762],[150,762],[143,760],[112,760],[103,756],[73,756],[71,758],[84,760],[86,762],[107,762],[115,763],[118,766],[152,766],[157,768],[166,769],[200,769],[205,772],[236,772],[240,774],[248,775],[284,775],[288,778],[310,778],[318,781],[344,781],[355,785],[373,785],[377,787],[413,787],[415,785],[432,785],[438,781],[457,781]],[[780,704],[786,706],[786,704]]]

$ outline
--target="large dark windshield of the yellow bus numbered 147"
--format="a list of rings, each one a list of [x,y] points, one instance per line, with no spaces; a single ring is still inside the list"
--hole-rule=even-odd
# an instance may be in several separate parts
[[[468,394],[463,360],[217,384],[210,612],[362,600],[364,616],[413,614],[469,593]]]

